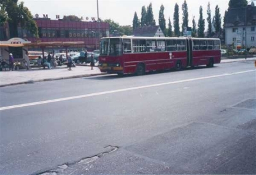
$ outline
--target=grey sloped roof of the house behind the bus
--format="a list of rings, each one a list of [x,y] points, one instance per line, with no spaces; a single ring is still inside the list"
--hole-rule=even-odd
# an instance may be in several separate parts
[[[157,29],[159,26],[145,26],[145,27],[138,27],[134,29],[133,35],[134,36],[149,36],[153,37],[156,35]]]

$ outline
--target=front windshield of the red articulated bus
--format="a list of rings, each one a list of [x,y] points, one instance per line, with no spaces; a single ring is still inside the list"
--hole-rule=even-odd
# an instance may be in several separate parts
[[[101,56],[120,56],[122,55],[122,39],[110,38],[102,39],[100,42]]]

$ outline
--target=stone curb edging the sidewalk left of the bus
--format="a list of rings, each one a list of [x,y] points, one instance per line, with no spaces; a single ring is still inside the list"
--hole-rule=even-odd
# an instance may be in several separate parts
[[[70,76],[70,77],[58,77],[58,78],[53,78],[53,79],[28,80],[28,81],[24,81],[24,82],[15,82],[15,83],[10,83],[10,84],[2,84],[2,85],[0,85],[0,88],[6,87],[6,86],[20,85],[20,84],[31,84],[31,83],[34,83],[34,82],[75,79],[75,78],[82,78],[82,77],[94,77],[94,76],[105,75],[105,74],[106,73],[95,73],[95,74],[86,74],[86,75],[74,75],[74,76]]]

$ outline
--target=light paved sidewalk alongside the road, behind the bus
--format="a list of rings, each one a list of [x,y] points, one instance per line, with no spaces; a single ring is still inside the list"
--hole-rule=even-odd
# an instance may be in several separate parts
[[[256,60],[256,57],[248,58],[247,61]],[[222,59],[221,63],[232,63],[236,61],[246,61],[243,59]],[[88,65],[76,66],[72,71],[68,71],[67,66],[52,68],[51,70],[33,68],[31,70],[15,70],[0,72],[0,88],[4,86],[12,86],[17,84],[26,84],[32,82],[40,82],[47,80],[61,80],[79,77],[90,77],[95,75],[102,75],[99,68],[95,67],[91,70]]]

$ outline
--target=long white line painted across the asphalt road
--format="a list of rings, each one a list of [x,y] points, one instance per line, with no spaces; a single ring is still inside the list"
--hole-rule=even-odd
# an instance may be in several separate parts
[[[195,79],[177,80],[177,81],[173,81],[173,82],[163,82],[163,83],[159,83],[159,84],[138,86],[138,87],[134,87],[134,88],[116,89],[113,91],[104,91],[104,92],[100,92],[100,93],[91,93],[91,94],[87,94],[87,95],[70,96],[70,97],[66,97],[66,98],[57,98],[54,100],[45,100],[45,101],[41,101],[41,102],[24,103],[24,104],[20,104],[20,105],[0,107],[0,110],[15,109],[15,108],[28,107],[28,106],[33,106],[33,105],[42,105],[42,104],[46,104],[46,103],[63,102],[63,101],[74,100],[74,99],[79,99],[79,98],[87,98],[90,96],[99,96],[99,95],[106,95],[106,94],[111,94],[111,93],[120,93],[120,92],[124,92],[124,91],[152,88],[152,87],[164,86],[164,85],[169,85],[169,84],[178,84],[181,82],[191,82],[191,81],[195,81],[195,80],[213,79],[213,78],[217,78],[217,77],[225,77],[225,76],[237,75],[237,74],[241,74],[241,73],[248,73],[248,72],[255,72],[255,71],[256,70],[246,70],[243,72],[224,73],[221,75],[212,75],[212,76],[208,76],[208,77],[199,77],[199,78],[195,78]]]

